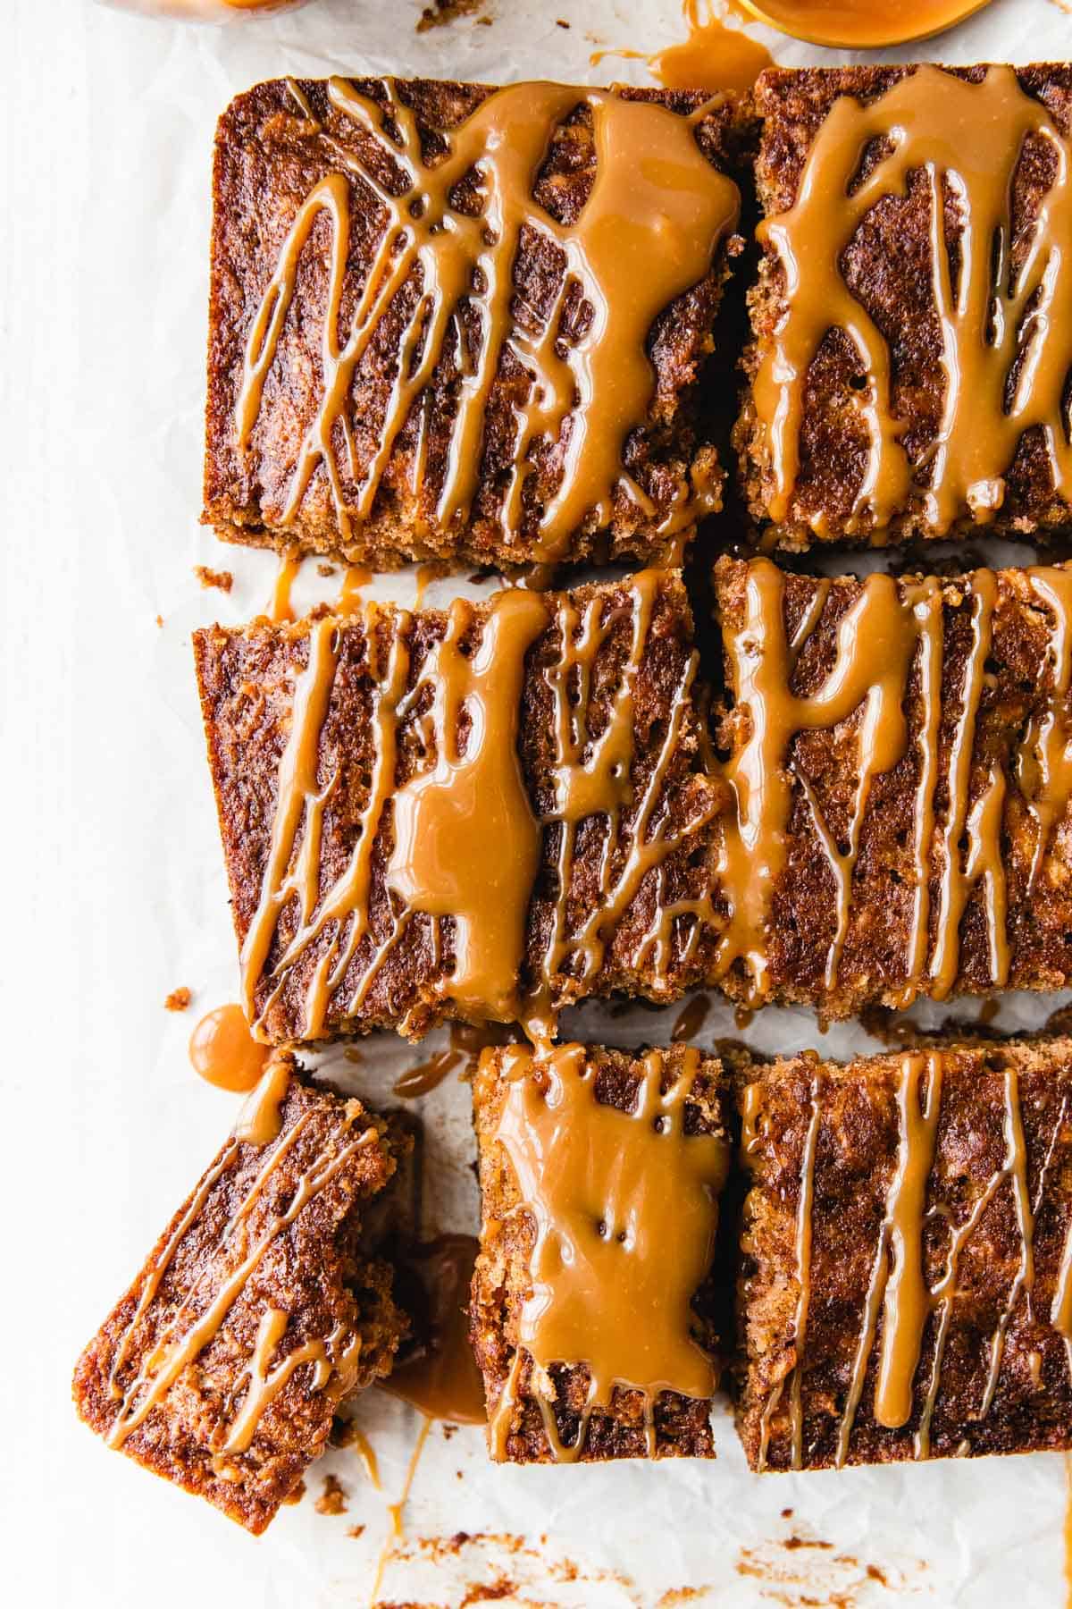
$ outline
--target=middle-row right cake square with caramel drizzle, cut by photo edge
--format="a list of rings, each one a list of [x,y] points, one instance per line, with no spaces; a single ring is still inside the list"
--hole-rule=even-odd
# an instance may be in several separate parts
[[[823,1017],[1072,981],[1072,568],[722,558],[710,978]]]

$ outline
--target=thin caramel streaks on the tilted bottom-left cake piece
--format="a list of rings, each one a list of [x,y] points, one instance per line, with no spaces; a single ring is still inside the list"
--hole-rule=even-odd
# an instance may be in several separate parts
[[[268,1181],[270,1175],[275,1171],[275,1168],[280,1165],[280,1162],[284,1158],[284,1155],[291,1150],[291,1147],[302,1134],[309,1121],[309,1117],[310,1117],[309,1112],[302,1113],[294,1123],[294,1126],[288,1130],[288,1133],[275,1144],[264,1167],[257,1173],[252,1186],[246,1192],[243,1202],[238,1205],[228,1223],[223,1226],[217,1253],[227,1249],[235,1231],[249,1216],[252,1207],[262,1195],[265,1183]],[[376,1130],[368,1128],[355,1139],[342,1146],[338,1152],[331,1150],[321,1152],[315,1158],[312,1167],[301,1176],[297,1189],[294,1191],[294,1195],[289,1202],[289,1207],[284,1212],[276,1213],[268,1220],[265,1229],[252,1244],[252,1247],[246,1252],[241,1263],[238,1263],[236,1268],[233,1268],[227,1274],[227,1278],[220,1282],[220,1289],[215,1292],[215,1295],[204,1308],[204,1311],[194,1316],[198,1297],[201,1295],[206,1278],[211,1274],[214,1266],[212,1260],[209,1260],[209,1263],[203,1268],[199,1278],[194,1281],[194,1284],[183,1297],[175,1313],[161,1329],[161,1334],[156,1337],[153,1350],[143,1360],[138,1374],[130,1382],[127,1390],[122,1393],[119,1411],[116,1414],[116,1419],[113,1421],[111,1430],[108,1432],[109,1446],[122,1446],[125,1443],[125,1440],[148,1419],[153,1409],[161,1401],[164,1401],[172,1385],[182,1376],[183,1369],[186,1369],[191,1363],[194,1363],[194,1360],[199,1358],[204,1348],[214,1340],[214,1337],[219,1334],[220,1327],[227,1321],[228,1313],[235,1307],[235,1302],[241,1297],[243,1290],[246,1290],[249,1279],[256,1273],[257,1266],[260,1265],[260,1260],[264,1258],[265,1252],[268,1250],[275,1237],[291,1223],[294,1223],[299,1213],[302,1213],[305,1207],[320,1194],[320,1191],[323,1191],[325,1186],[328,1186],[331,1179],[336,1178],[339,1170],[347,1163],[347,1160],[357,1150],[374,1141],[376,1141]],[[113,1395],[116,1397],[119,1395],[119,1392],[114,1382],[114,1374],[116,1369],[119,1368],[119,1363],[127,1353],[133,1327],[143,1316],[145,1310],[151,1302],[153,1294],[159,1287],[159,1281],[167,1271],[167,1266],[170,1265],[175,1255],[182,1236],[185,1234],[190,1223],[196,1216],[196,1212],[201,1210],[201,1205],[204,1204],[211,1186],[215,1183],[215,1178],[219,1178],[225,1165],[230,1167],[233,1157],[236,1155],[236,1149],[238,1142],[233,1142],[228,1152],[223,1154],[223,1157],[217,1163],[219,1171],[214,1170],[215,1176],[212,1173],[206,1175],[206,1181],[203,1183],[198,1195],[194,1197],[194,1202],[191,1204],[190,1210],[183,1215],[183,1221],[180,1223],[175,1234],[170,1237],[158,1265],[154,1265],[153,1276],[149,1282],[146,1282],[138,1308],[135,1308],[133,1318],[130,1319],[130,1324],[127,1326],[119,1342],[117,1361],[113,1368]],[[149,1286],[153,1287],[153,1290],[146,1298]],[[182,1326],[186,1318],[190,1318],[191,1323],[183,1331]],[[284,1315],[283,1319],[286,1321]],[[251,1395],[254,1397],[254,1403],[259,1403],[260,1406],[257,1411],[254,1411],[254,1406],[248,1400],[246,1409],[243,1409],[238,1419],[238,1426],[241,1427],[241,1430],[235,1432],[239,1434],[241,1438],[244,1438],[244,1446],[249,1446],[249,1442],[256,1434],[260,1413],[268,1405],[272,1397],[276,1395],[278,1390],[281,1390],[283,1385],[286,1384],[284,1377],[278,1377],[278,1371],[273,1371],[272,1374],[267,1372],[267,1356],[270,1356],[272,1348],[268,1348],[265,1353],[267,1337],[268,1337],[268,1329],[265,1326],[267,1326],[267,1316],[262,1319],[259,1332],[259,1340],[257,1340],[259,1350],[254,1353],[254,1358],[251,1360],[249,1364]],[[273,1319],[272,1323],[273,1332],[275,1327],[276,1321]],[[278,1335],[275,1339],[278,1340]],[[331,1340],[333,1337],[328,1337],[328,1342]],[[328,1353],[325,1352],[325,1360],[326,1358]],[[344,1372],[347,1372],[350,1371],[354,1358],[350,1355],[350,1350],[346,1348],[344,1353],[339,1355],[339,1358],[329,1361],[333,1369],[344,1369]],[[294,1364],[294,1368],[297,1368],[297,1364]],[[317,1372],[320,1372],[320,1369]],[[275,1389],[272,1389],[273,1382],[276,1382]]]

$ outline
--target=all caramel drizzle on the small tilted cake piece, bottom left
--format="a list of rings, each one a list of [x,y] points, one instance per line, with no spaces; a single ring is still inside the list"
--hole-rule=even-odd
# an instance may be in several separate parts
[[[109,1446],[122,1446],[127,1437],[145,1424],[156,1405],[167,1397],[170,1389],[180,1379],[182,1372],[190,1364],[196,1363],[204,1348],[215,1339],[235,1307],[235,1302],[238,1302],[248,1289],[249,1281],[254,1278],[273,1241],[294,1223],[294,1220],[312,1200],[315,1200],[320,1191],[331,1183],[355,1150],[362,1146],[374,1144],[378,1138],[376,1130],[368,1128],[341,1146],[341,1149],[325,1150],[302,1175],[286,1208],[273,1215],[260,1236],[251,1244],[246,1229],[246,1218],[249,1216],[254,1204],[264,1194],[276,1165],[283,1160],[305,1128],[307,1120],[309,1113],[304,1113],[297,1118],[293,1128],[288,1130],[281,1139],[278,1139],[243,1202],[223,1226],[220,1250],[230,1244],[231,1237],[238,1236],[235,1244],[241,1249],[241,1260],[225,1274],[220,1281],[219,1290],[207,1302],[207,1292],[203,1290],[203,1282],[206,1271],[211,1271],[212,1268],[212,1261],[209,1260],[204,1265],[201,1278],[194,1279],[182,1303],[161,1327],[156,1344],[141,1360],[138,1374],[127,1385],[127,1389],[121,1392],[117,1371],[127,1356],[133,1329],[159,1289],[159,1282],[167,1273],[186,1228],[204,1205],[212,1184],[235,1163],[239,1149],[238,1139],[231,1141],[231,1146],[223,1152],[220,1160],[201,1183],[194,1200],[183,1215],[182,1223],[167,1241],[162,1253],[154,1260],[146,1276],[135,1313],[119,1340],[111,1376],[113,1395],[119,1400],[119,1409],[111,1430],[108,1432]],[[347,1115],[347,1125],[349,1121],[350,1118]],[[284,1334],[286,1323],[286,1313],[273,1308],[265,1308],[262,1313],[254,1352],[246,1368],[248,1390],[243,1405],[230,1424],[225,1424],[223,1419],[220,1419],[220,1424],[214,1430],[215,1463],[217,1469],[223,1474],[227,1472],[227,1458],[249,1448],[265,1408],[280,1393],[280,1390],[283,1390],[289,1376],[302,1363],[313,1364],[313,1390],[321,1390],[331,1374],[339,1374],[346,1393],[346,1390],[349,1390],[352,1382],[357,1379],[360,1366],[360,1335],[346,1339],[342,1329],[336,1329],[329,1335],[310,1340],[302,1348],[297,1348],[297,1352],[304,1355],[297,1356],[294,1363],[289,1361],[294,1356],[294,1352],[291,1352],[288,1356],[281,1358],[275,1368],[272,1368],[272,1358]]]

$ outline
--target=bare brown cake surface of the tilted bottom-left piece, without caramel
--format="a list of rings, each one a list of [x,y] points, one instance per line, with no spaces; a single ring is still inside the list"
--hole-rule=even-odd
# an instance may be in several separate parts
[[[169,1339],[170,1321],[182,1310],[177,1334],[185,1335],[227,1289],[273,1218],[288,1210],[302,1181],[315,1178],[368,1130],[371,1139],[272,1236],[204,1348],[186,1361],[141,1422],[132,1422],[125,1438],[117,1437],[124,1393],[140,1371],[154,1372],[153,1353]],[[342,1397],[387,1374],[405,1334],[405,1316],[391,1295],[391,1266],[362,1249],[365,1207],[384,1189],[405,1149],[402,1136],[389,1133],[360,1102],[291,1080],[280,1139],[270,1147],[235,1139],[223,1146],[82,1353],[74,1372],[82,1419],[146,1469],[207,1498],[248,1530],[262,1532],[325,1446]],[[268,1150],[278,1160],[254,1194]],[[251,1195],[241,1220],[244,1232],[225,1239],[225,1226]],[[326,1353],[333,1368],[321,1384],[312,1358],[294,1368],[265,1401],[248,1448],[227,1451],[228,1434],[252,1390],[249,1371],[268,1310],[286,1315],[267,1360],[270,1369],[302,1347],[317,1356]],[[141,1390],[130,1397],[132,1409]]]

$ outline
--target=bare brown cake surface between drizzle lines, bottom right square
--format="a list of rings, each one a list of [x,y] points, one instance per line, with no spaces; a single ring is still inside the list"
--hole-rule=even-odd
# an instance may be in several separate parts
[[[898,1163],[900,1056],[847,1067],[812,1052],[768,1067],[744,1064],[746,1163],[738,1278],[738,1427],[752,1469],[788,1469],[792,1398],[799,1385],[800,1467],[839,1461],[839,1434],[855,1376],[876,1249]],[[1009,1072],[1011,1070],[1011,1072]],[[852,1432],[841,1461],[1025,1453],[1072,1445],[1069,1350],[1054,1323],[1072,1221],[1072,1041],[963,1044],[945,1051],[934,1160],[927,1171],[921,1265],[931,1290],[947,1270],[951,1236],[964,1226],[1009,1157],[1009,1101],[1022,1123],[1030,1274],[1006,1176],[964,1239],[951,1282],[929,1440],[919,1446],[942,1324],[935,1305],[923,1329],[906,1422],[876,1422],[884,1316],[868,1356]],[[797,1220],[807,1178],[807,1136],[818,1091],[810,1213],[810,1302],[804,1369],[796,1344],[800,1292]],[[1017,1286],[1019,1278],[1019,1286]],[[1003,1335],[987,1411],[995,1335]],[[781,1390],[779,1390],[781,1387]],[[763,1458],[763,1416],[768,1413]]]

